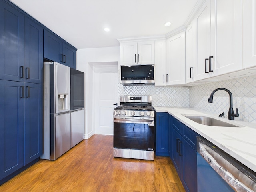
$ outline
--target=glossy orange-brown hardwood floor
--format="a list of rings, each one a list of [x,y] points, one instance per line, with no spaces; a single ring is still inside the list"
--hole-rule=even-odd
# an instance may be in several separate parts
[[[39,160],[1,192],[184,192],[168,157],[113,158],[113,136],[94,135],[55,161]]]

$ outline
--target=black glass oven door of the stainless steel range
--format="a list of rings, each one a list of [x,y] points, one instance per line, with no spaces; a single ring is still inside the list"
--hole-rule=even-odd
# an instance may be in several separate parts
[[[154,125],[138,122],[114,122],[114,148],[154,151]]]

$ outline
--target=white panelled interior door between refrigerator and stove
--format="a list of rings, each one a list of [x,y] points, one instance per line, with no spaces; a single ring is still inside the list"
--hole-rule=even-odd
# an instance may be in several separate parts
[[[113,134],[117,83],[117,64],[94,66],[94,134]]]

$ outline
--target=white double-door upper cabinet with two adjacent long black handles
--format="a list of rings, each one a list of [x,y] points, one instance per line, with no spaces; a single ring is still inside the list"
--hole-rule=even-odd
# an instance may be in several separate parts
[[[195,28],[194,80],[242,69],[242,0],[206,0]]]

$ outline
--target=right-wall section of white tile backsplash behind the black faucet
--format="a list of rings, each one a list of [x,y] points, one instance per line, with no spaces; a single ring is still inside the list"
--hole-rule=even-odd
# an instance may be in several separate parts
[[[229,95],[220,90],[214,93],[213,102],[208,103],[210,93],[216,88],[226,88],[233,95],[234,112],[238,108],[239,117],[235,119],[256,123],[256,76],[246,76],[219,82],[211,82],[190,87],[190,104],[192,108],[221,114],[228,114]]]

